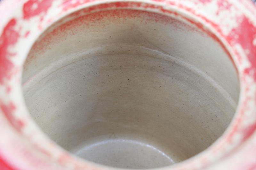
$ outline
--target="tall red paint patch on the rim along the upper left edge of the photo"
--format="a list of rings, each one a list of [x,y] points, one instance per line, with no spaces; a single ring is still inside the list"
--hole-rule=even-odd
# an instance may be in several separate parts
[[[9,57],[15,55],[8,51],[8,47],[14,45],[19,38],[19,33],[14,30],[16,19],[12,18],[5,26],[2,35],[0,36],[0,84],[4,83],[4,78],[10,79],[14,64]]]

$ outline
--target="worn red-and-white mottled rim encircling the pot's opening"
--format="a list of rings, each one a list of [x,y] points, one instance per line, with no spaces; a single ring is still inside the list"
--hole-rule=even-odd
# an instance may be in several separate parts
[[[0,23],[1,168],[110,168],[77,158],[52,142],[29,116],[22,95],[22,64],[37,37],[58,19],[80,9],[88,13],[103,9],[157,12],[193,24],[217,41],[238,71],[240,96],[236,115],[210,148],[174,166],[159,169],[256,168],[256,8],[252,3],[247,0],[12,0],[0,5],[1,12],[12,2],[20,6],[9,13],[6,22]]]

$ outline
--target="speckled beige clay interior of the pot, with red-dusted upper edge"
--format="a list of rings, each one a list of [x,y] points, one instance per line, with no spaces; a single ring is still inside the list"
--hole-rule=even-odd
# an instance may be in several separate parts
[[[23,91],[38,126],[67,151],[155,168],[221,136],[239,83],[223,48],[196,26],[146,11],[80,11],[38,38]]]

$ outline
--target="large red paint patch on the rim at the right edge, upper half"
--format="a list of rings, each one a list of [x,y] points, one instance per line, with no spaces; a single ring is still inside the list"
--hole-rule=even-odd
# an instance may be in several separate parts
[[[240,20],[240,21],[239,21]],[[234,28],[228,35],[227,40],[232,46],[240,44],[245,51],[248,51],[248,60],[251,66],[244,70],[244,73],[254,77],[256,81],[256,45],[253,45],[256,41],[256,29],[248,18],[238,18],[238,27]]]

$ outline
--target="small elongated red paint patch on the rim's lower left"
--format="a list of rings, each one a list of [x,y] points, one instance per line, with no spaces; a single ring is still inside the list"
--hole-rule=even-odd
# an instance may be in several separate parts
[[[0,108],[13,127],[15,127],[19,131],[24,127],[24,122],[22,122],[21,120],[17,120],[13,116],[13,112],[16,108],[13,103],[10,103],[9,105],[1,104]]]

